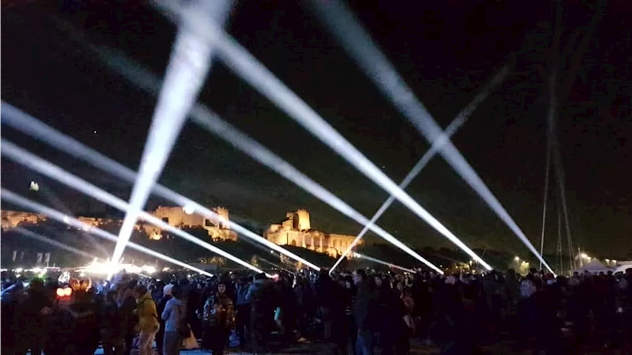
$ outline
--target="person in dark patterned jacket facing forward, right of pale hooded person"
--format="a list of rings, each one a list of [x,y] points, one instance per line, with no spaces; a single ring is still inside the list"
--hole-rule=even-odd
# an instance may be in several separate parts
[[[217,284],[217,291],[204,304],[204,337],[202,344],[213,355],[224,354],[228,335],[234,325],[233,300],[226,294],[226,285]]]

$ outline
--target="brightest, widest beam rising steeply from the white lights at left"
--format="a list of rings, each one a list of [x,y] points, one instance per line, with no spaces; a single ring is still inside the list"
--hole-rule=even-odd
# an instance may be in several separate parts
[[[231,9],[231,1],[196,0],[183,8],[184,22],[202,20],[223,25]],[[158,95],[149,135],[138,168],[138,177],[131,190],[130,207],[119,231],[119,241],[114,247],[112,261],[119,262],[130,240],[138,214],[143,210],[152,188],[158,181],[169,153],[185,124],[188,112],[195,103],[204,80],[210,71],[212,44],[205,39],[204,28],[180,26],[171,52],[164,83]],[[202,33],[202,32],[204,33]]]

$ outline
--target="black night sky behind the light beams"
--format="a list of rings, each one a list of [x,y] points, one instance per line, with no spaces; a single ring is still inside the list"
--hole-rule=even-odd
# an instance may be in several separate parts
[[[70,23],[94,44],[119,49],[159,75],[175,27],[139,1],[25,3],[0,8],[0,99],[136,169],[155,97],[100,63],[61,24]],[[427,150],[427,142],[323,30],[309,7],[299,3],[307,4],[240,1],[229,32],[399,183]],[[453,140],[534,244],[539,244],[542,224],[545,83],[555,19],[550,6],[548,1],[509,0],[351,3],[443,127],[502,66],[512,63],[504,83]],[[597,5],[575,0],[562,7],[559,70],[565,82],[573,72],[568,54],[576,52]],[[568,102],[560,108],[557,131],[574,244],[617,258],[632,254],[627,247],[632,229],[629,7],[611,1],[599,16],[573,73]],[[367,217],[388,197],[217,61],[200,100]],[[128,198],[128,184],[9,128],[1,131],[14,143]],[[49,204],[62,203],[76,214],[104,211],[89,198],[0,160],[3,186],[26,194],[31,180],[44,186]],[[231,217],[251,224],[280,222],[285,212],[307,208],[314,229],[356,234],[362,227],[192,123],[186,124],[161,182],[198,202],[224,205]],[[557,240],[554,183],[549,251]],[[441,158],[408,192],[466,244],[526,255],[518,238]],[[150,207],[159,203],[152,200]],[[398,203],[380,226],[412,246],[450,246]]]

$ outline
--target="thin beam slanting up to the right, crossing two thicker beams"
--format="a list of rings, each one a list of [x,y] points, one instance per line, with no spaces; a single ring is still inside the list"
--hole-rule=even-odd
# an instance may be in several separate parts
[[[508,72],[509,68],[502,68],[501,71],[499,71],[499,73],[494,76],[492,81],[490,81],[490,83],[486,85],[485,88],[483,88],[483,90],[474,97],[472,102],[470,102],[470,104],[468,104],[463,110],[461,110],[461,112],[459,112],[458,115],[456,115],[456,117],[454,117],[453,121],[447,126],[444,133],[432,143],[430,149],[428,149],[427,152],[422,155],[422,158],[417,162],[417,164],[415,164],[415,166],[413,166],[413,169],[408,172],[408,175],[406,175],[403,181],[399,184],[399,188],[404,190],[408,187],[413,179],[415,179],[416,176],[419,175],[420,172],[422,172],[423,168],[428,164],[428,162],[430,162],[430,160],[434,158],[437,152],[439,152],[439,150],[443,148],[446,142],[449,141],[451,136],[454,135],[454,133],[456,133],[456,131],[461,128],[463,124],[465,124],[465,122],[468,120],[468,117],[470,117],[471,113],[474,112],[477,106],[485,99],[487,99],[490,92],[492,92],[492,90],[504,79]],[[377,212],[375,212],[375,215],[373,215],[370,222],[372,224],[377,222],[377,220],[382,217],[384,212],[386,212],[386,210],[391,207],[393,202],[395,202],[395,196],[391,195],[384,202],[384,204],[382,204],[382,207],[380,207]],[[336,263],[334,263],[331,269],[329,269],[330,275],[334,271],[334,269],[336,269],[336,267],[340,265],[341,262],[343,262],[344,258],[349,254],[349,251],[353,250],[356,244],[358,244],[358,242],[362,240],[367,231],[368,225],[364,226],[362,231],[358,233],[358,236],[356,236],[356,238],[353,239],[353,242],[349,244],[347,250],[344,251],[343,255],[341,255],[340,258],[336,260]]]

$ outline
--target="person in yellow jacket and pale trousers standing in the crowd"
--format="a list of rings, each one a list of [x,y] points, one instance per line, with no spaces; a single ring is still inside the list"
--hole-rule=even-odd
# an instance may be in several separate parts
[[[134,288],[134,297],[138,315],[138,351],[140,355],[153,355],[155,335],[160,328],[156,304],[144,285]]]

